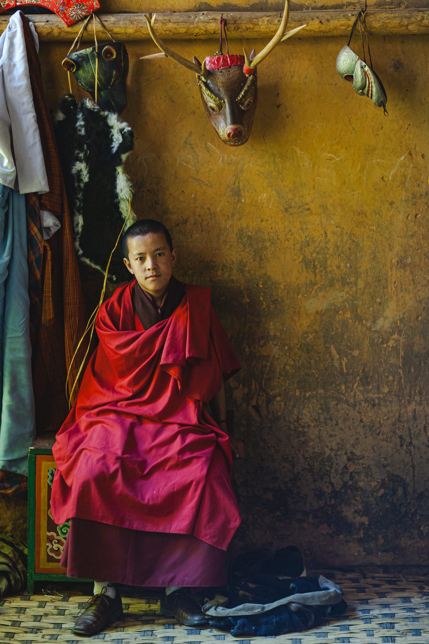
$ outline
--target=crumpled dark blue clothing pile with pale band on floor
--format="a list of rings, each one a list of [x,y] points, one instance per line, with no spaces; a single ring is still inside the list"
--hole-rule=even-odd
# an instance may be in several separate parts
[[[277,636],[311,629],[327,616],[347,610],[340,586],[324,576],[307,576],[295,546],[272,557],[243,555],[233,565],[231,583],[206,598],[210,627],[232,636]]]

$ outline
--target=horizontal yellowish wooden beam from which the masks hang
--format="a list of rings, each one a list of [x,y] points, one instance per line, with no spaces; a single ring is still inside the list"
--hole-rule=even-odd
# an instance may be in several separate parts
[[[230,39],[269,39],[280,24],[278,12],[223,12]],[[155,28],[163,39],[214,39],[219,37],[220,12],[186,12],[157,14]],[[307,24],[300,38],[349,35],[356,10],[291,11],[288,29]],[[71,42],[80,24],[67,27],[55,14],[28,15],[41,41]],[[143,14],[104,14],[100,18],[116,40],[143,41],[150,39]],[[8,16],[0,15],[0,33],[8,24]],[[368,10],[367,30],[376,35],[420,35],[429,33],[428,9]],[[105,32],[97,26],[97,37]],[[92,24],[86,39],[93,39]]]

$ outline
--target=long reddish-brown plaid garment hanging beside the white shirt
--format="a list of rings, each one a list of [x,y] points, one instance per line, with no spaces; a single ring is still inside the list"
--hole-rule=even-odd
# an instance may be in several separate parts
[[[78,342],[86,328],[86,319],[67,196],[51,117],[44,96],[40,62],[28,21],[22,14],[21,18],[34,108],[50,186],[49,193],[39,195],[38,200],[35,196],[28,198],[31,207],[30,205],[28,207],[30,216],[27,219],[28,243],[32,253],[37,255],[34,262],[31,256],[29,257],[32,272],[30,277],[32,300],[36,297],[37,267],[41,264],[42,308],[37,343],[33,347],[36,426],[37,432],[40,433],[48,430],[58,431],[68,415],[67,392],[71,390],[78,367],[84,359],[85,343],[82,343],[77,352],[68,379],[67,373]],[[41,237],[38,229],[40,209],[52,211],[61,222],[60,230],[48,242],[42,241],[42,262]],[[35,220],[37,220],[36,223]],[[32,238],[31,241],[30,238]],[[78,386],[75,388],[73,400],[77,392]]]

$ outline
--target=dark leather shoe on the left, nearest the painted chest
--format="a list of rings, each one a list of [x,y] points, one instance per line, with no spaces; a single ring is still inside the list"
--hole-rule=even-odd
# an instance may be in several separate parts
[[[95,635],[107,624],[122,617],[122,600],[118,591],[113,599],[104,594],[97,594],[87,602],[84,612],[77,616],[71,630],[75,635]]]

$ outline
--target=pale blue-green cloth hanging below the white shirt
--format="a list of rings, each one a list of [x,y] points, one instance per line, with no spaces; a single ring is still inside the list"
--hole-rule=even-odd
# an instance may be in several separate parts
[[[28,475],[35,437],[25,196],[0,184],[0,469]]]

